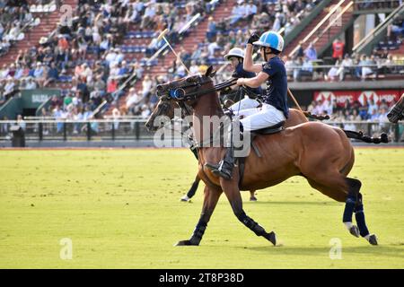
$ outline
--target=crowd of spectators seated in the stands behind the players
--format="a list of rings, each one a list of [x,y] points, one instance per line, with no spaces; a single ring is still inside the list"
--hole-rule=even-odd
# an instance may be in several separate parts
[[[63,4],[63,1],[58,2],[58,5]],[[19,90],[69,83],[72,88],[64,91],[61,98],[53,97],[49,108],[41,111],[42,117],[89,119],[95,116],[92,111],[104,100],[108,102],[105,110],[110,110],[114,118],[148,117],[157,102],[155,87],[183,77],[187,71],[180,60],[175,60],[166,74],[152,77],[146,73],[144,61],[127,58],[121,44],[127,33],[133,32],[133,27],[138,32],[153,31],[154,35],[169,29],[167,37],[175,45],[181,37],[187,36],[187,33],[180,34],[185,23],[199,13],[202,19],[207,19],[205,41],[192,50],[180,45],[175,47],[191,74],[197,74],[206,71],[208,65],[224,65],[223,56],[231,48],[243,48],[251,31],[277,30],[287,35],[321,0],[239,0],[227,18],[215,20],[212,13],[221,2],[79,0],[72,22],[58,22],[56,30],[40,39],[38,46],[21,50],[13,64],[0,65],[0,106]],[[13,41],[17,31],[33,17],[28,3],[19,7],[5,3],[7,1],[0,1],[0,52],[4,45],[4,53],[7,42]],[[402,30],[398,25],[391,33],[401,39]],[[151,57],[162,43],[155,37],[150,38],[145,57]],[[303,46],[294,57],[284,56],[291,81],[344,81],[347,77],[365,80],[372,74],[377,77],[400,72],[397,66],[400,63],[388,50],[375,49],[370,56],[349,55],[343,41],[337,39],[332,46],[329,67],[317,68],[321,59],[314,45]],[[135,89],[133,75],[141,82],[140,89]],[[227,68],[218,75],[217,81],[230,75]],[[127,82],[131,87],[121,89]],[[119,99],[124,95],[127,96],[125,104],[119,107]],[[378,109],[369,107],[355,103],[340,109],[335,103],[314,101],[309,109],[316,114],[335,115],[338,120],[373,120],[384,117],[388,108],[384,104]],[[75,132],[80,131],[77,128]]]

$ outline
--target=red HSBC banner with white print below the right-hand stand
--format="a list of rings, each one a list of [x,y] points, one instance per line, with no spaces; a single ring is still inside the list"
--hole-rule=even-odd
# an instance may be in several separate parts
[[[382,100],[390,106],[391,102],[395,103],[400,99],[404,90],[377,90],[377,91],[315,91],[313,100],[328,100],[332,102],[335,100],[338,106],[344,106],[345,102],[349,100],[352,104],[358,100],[361,105],[369,100],[373,100],[376,104],[380,104]]]

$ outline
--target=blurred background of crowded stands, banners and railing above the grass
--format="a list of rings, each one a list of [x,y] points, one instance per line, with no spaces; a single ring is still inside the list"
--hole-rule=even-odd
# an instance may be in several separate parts
[[[387,119],[404,93],[401,0],[25,0],[0,1],[0,146],[153,146],[155,87],[188,75],[165,29],[215,83],[232,77],[231,48],[276,30],[303,109],[404,143]]]

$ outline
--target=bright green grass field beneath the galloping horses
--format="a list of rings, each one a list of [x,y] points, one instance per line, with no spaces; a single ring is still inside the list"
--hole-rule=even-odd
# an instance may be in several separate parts
[[[197,169],[178,150],[0,151],[0,268],[403,268],[404,149],[356,149],[369,230],[348,234],[344,204],[289,178],[244,210],[281,247],[255,236],[222,196],[199,247],[173,247],[198,222],[202,185],[181,203]],[[73,258],[60,257],[71,239]],[[339,239],[341,259],[331,259]],[[62,242],[63,243],[63,242]]]

